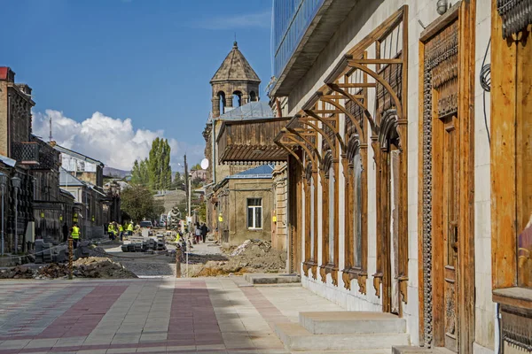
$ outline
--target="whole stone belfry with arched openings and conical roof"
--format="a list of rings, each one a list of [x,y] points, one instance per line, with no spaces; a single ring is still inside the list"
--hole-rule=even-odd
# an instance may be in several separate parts
[[[249,102],[258,101],[261,80],[239,50],[237,42],[223,59],[210,81],[212,86],[213,117]]]

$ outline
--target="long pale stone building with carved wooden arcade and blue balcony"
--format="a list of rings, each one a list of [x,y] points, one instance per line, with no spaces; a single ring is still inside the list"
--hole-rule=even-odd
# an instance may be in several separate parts
[[[290,120],[270,139],[286,154],[289,266],[359,312],[327,319],[345,338],[295,344],[305,323],[278,326],[290,349],[358,349],[354,316],[403,323],[370,341],[395,352],[529,350],[532,55],[516,3],[274,1],[269,96]]]

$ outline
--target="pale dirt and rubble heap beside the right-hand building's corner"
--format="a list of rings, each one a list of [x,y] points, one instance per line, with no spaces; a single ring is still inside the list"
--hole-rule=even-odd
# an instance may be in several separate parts
[[[271,242],[246,240],[237,248],[224,250],[227,260],[207,261],[191,276],[239,275],[242,273],[278,273],[286,269],[286,252],[273,250]]]

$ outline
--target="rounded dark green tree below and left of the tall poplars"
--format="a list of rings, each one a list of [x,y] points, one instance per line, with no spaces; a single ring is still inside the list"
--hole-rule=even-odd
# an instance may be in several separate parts
[[[121,192],[121,210],[136,222],[145,218],[153,219],[159,209],[153,199],[152,191],[143,185],[134,184]]]

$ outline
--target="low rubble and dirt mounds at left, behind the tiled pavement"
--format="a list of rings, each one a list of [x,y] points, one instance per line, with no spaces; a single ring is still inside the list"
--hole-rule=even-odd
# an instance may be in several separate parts
[[[79,258],[73,263],[72,274],[77,278],[126,279],[137,278],[120,263],[105,257]],[[52,263],[42,266],[35,274],[37,279],[55,279],[68,276],[68,264]]]

